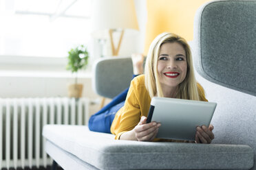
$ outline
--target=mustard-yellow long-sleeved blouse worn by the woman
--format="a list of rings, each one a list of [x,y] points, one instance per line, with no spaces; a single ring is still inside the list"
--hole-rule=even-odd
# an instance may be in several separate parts
[[[204,97],[204,89],[198,84],[198,93],[202,101],[207,101]],[[125,100],[125,106],[116,112],[111,133],[115,134],[115,139],[119,139],[121,134],[133,130],[140,122],[140,117],[149,112],[151,98],[145,86],[145,75],[139,75],[131,81],[129,91]]]

